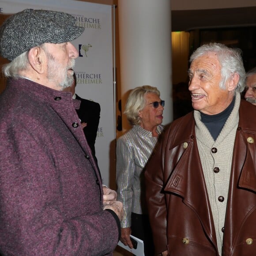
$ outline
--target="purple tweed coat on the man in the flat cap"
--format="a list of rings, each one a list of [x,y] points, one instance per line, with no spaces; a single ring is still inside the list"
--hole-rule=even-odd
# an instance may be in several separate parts
[[[120,223],[68,92],[11,79],[0,95],[0,254],[112,254]]]

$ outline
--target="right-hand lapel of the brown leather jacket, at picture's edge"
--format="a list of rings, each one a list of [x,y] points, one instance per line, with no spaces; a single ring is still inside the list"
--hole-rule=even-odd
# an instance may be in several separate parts
[[[255,211],[256,152],[253,149],[255,146],[247,142],[248,137],[253,136],[249,131],[252,129],[244,128],[241,118],[233,150],[223,255],[230,255],[230,252],[234,250],[243,223]]]

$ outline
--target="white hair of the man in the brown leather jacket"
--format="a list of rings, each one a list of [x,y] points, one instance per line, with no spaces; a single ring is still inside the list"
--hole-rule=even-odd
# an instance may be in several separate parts
[[[241,56],[241,50],[230,48],[219,43],[209,43],[200,46],[194,53],[192,53],[190,63],[207,53],[216,53],[218,56],[222,75],[219,87],[225,89],[228,79],[230,79],[234,73],[237,73],[239,75],[239,81],[236,91],[242,92],[245,89],[245,68]]]

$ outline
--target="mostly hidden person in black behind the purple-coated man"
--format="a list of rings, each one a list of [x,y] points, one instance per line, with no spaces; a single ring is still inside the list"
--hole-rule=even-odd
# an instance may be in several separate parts
[[[83,133],[87,139],[87,143],[94,155],[95,159],[95,140],[98,132],[98,125],[100,121],[100,112],[101,107],[97,102],[93,102],[87,99],[80,98],[77,94],[75,94],[76,87],[76,75],[74,72],[74,82],[71,87],[67,87],[66,91],[70,91],[73,95],[73,99],[78,99],[80,103],[79,109],[76,109],[76,113],[81,120],[81,125],[83,128]]]

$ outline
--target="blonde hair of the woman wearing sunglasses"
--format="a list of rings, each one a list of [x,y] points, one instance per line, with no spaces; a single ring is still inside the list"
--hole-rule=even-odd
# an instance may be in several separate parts
[[[143,85],[133,89],[127,99],[124,114],[131,125],[140,124],[139,111],[145,107],[145,94],[152,92],[160,96],[160,92],[156,87]]]

